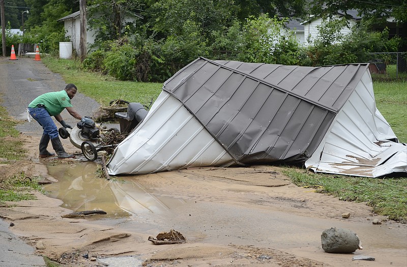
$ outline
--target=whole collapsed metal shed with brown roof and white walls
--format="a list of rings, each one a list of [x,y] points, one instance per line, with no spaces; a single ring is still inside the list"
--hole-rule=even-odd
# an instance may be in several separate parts
[[[407,172],[406,146],[376,109],[368,65],[197,58],[164,83],[108,172],[273,162],[371,177]]]

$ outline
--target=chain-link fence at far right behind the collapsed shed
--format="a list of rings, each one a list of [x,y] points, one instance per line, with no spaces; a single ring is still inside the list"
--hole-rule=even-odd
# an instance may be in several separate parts
[[[368,53],[373,80],[407,80],[407,52]]]

